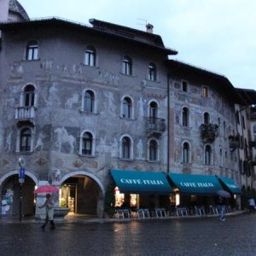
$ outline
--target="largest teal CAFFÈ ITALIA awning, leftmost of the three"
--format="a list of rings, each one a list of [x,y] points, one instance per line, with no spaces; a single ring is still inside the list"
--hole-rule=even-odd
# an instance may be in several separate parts
[[[136,172],[110,170],[113,180],[121,193],[173,194],[163,172]]]

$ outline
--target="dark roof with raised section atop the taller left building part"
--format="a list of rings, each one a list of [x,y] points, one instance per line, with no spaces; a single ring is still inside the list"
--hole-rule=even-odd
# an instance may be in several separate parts
[[[118,38],[119,40],[128,41],[136,44],[143,44],[166,55],[176,55],[177,51],[166,48],[159,35],[149,32],[142,32],[126,26],[119,26],[102,20],[90,19],[92,26],[87,26],[71,20],[51,17],[38,20],[26,20],[20,22],[3,22],[0,23],[0,29],[4,31],[14,30],[21,27],[37,27],[37,26],[61,26],[66,28],[79,29],[83,32],[95,32],[104,34],[110,38]]]

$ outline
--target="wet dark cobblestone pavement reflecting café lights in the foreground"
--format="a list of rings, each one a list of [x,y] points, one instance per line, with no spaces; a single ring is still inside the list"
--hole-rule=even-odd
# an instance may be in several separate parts
[[[256,214],[123,222],[0,222],[0,255],[256,255]]]

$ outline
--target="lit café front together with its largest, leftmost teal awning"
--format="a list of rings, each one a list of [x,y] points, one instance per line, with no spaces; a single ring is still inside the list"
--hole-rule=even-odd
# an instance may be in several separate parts
[[[110,170],[115,183],[115,207],[166,207],[173,190],[163,172]]]

